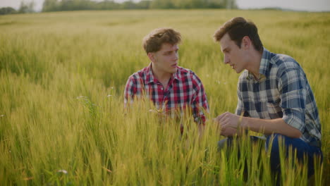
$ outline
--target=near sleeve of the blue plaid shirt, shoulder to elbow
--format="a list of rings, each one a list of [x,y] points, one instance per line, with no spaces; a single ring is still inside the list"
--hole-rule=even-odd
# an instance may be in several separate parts
[[[300,132],[305,128],[306,83],[300,68],[283,70],[279,79],[283,120]]]

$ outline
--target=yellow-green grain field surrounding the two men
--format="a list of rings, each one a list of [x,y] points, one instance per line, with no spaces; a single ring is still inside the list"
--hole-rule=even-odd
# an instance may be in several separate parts
[[[181,32],[179,65],[204,83],[208,118],[235,111],[238,74],[212,39],[234,16],[301,64],[317,100],[323,166],[307,180],[304,167],[283,162],[282,184],[330,182],[330,13],[77,11],[0,16],[0,185],[269,185],[267,152],[217,152],[211,120],[199,139],[191,118],[181,137],[149,103],[123,113],[128,76],[149,64],[142,37],[157,27]]]

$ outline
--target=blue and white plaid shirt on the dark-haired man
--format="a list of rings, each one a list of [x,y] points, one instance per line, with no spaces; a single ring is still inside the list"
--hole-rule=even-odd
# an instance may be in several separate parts
[[[245,70],[238,80],[236,114],[283,120],[302,132],[305,142],[321,140],[314,95],[301,66],[290,56],[264,49],[258,80]]]

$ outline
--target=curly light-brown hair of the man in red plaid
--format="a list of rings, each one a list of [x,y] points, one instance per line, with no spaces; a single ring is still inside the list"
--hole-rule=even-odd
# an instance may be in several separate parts
[[[181,42],[181,34],[172,28],[161,27],[149,33],[142,41],[143,48],[147,54],[161,49],[164,43],[178,44]]]

